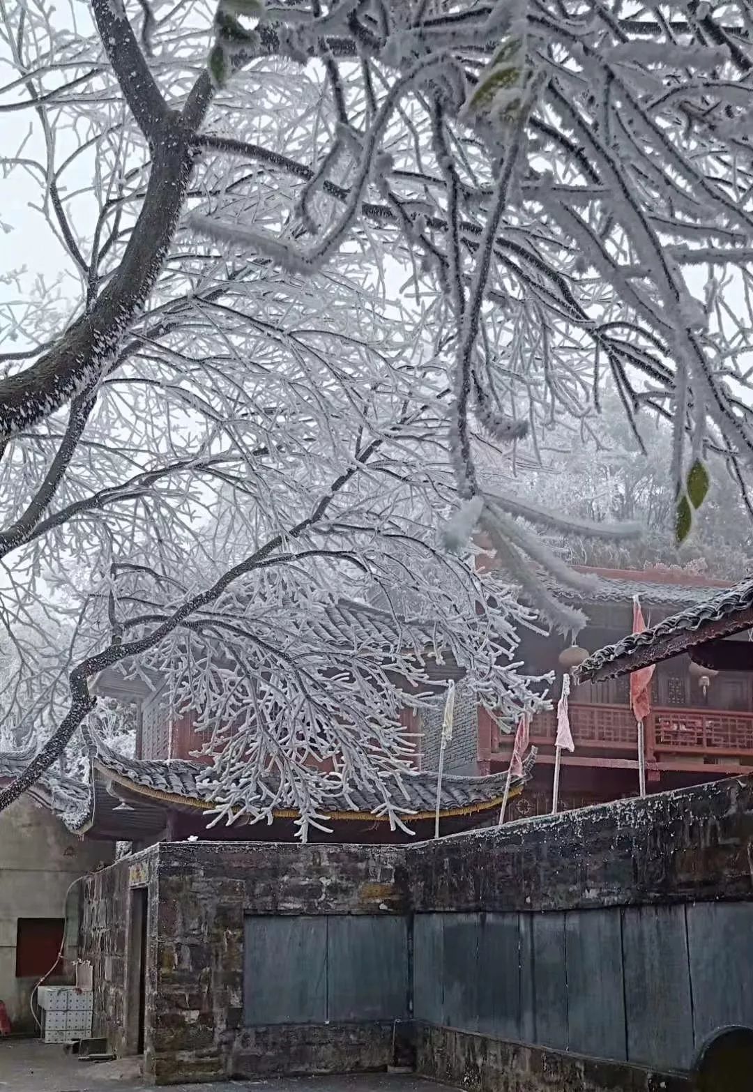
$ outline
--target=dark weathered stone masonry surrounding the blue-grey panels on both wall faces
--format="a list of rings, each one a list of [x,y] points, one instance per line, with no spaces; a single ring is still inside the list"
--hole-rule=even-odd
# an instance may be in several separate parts
[[[730,904],[730,913],[732,903],[748,912],[753,782],[732,779],[411,846],[162,843],[96,877],[87,891],[84,954],[94,959],[95,981],[100,980],[100,1030],[115,1045],[122,1043],[118,1029],[128,1018],[122,929],[134,860],[151,900],[145,1034],[151,1077],[169,1083],[382,1068],[411,1057],[410,1025],[243,1026],[247,915],[447,916],[456,919],[463,942],[470,938],[476,945],[478,959],[480,940],[473,930],[479,915],[486,929],[500,915],[543,919],[595,907],[600,912],[594,921],[610,913],[605,907],[613,907],[621,921],[637,913],[631,907],[707,903],[713,909],[719,900]],[[453,996],[465,988],[469,969],[459,956],[450,968]],[[478,970],[482,981],[483,968]],[[446,980],[443,988],[446,996]],[[730,1004],[734,1018],[737,1002]],[[483,1026],[451,1026],[446,1006],[438,1011],[439,1018],[423,1017],[427,1023],[415,1029],[419,1068],[471,1092],[685,1087],[680,1078],[619,1060],[588,1061],[545,1046],[515,1045],[510,1042],[515,1036],[499,1030],[478,1034]],[[518,1037],[530,1042],[525,1030]],[[516,1083],[504,1083],[506,1071],[516,1075]]]

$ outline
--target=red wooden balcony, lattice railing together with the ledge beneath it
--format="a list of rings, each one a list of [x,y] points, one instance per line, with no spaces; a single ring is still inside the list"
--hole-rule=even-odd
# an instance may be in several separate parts
[[[637,748],[637,726],[630,707],[576,704],[570,707],[574,755],[563,761],[575,765],[632,767]],[[657,770],[696,770],[704,760],[722,771],[753,771],[753,713],[716,709],[655,709],[645,725],[646,760]],[[557,714],[534,717],[530,741],[547,762],[554,748]],[[492,757],[506,755],[512,737],[493,743]]]

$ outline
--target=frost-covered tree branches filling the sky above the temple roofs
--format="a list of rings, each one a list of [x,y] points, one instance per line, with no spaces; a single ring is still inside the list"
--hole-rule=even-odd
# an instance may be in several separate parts
[[[751,509],[748,4],[79,8],[0,9],[8,238],[46,240],[0,281],[27,782],[123,664],[172,679],[220,816],[304,828],[335,778],[397,821],[422,657],[514,719],[516,597],[583,621],[545,535],[637,533],[521,485],[607,385],[637,452],[671,430],[677,538],[725,463]]]

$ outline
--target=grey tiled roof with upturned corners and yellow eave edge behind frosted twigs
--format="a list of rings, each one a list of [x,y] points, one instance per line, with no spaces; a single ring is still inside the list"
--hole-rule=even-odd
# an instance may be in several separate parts
[[[531,749],[524,762],[523,778],[511,781],[512,790],[522,787],[528,781],[535,761],[536,750]],[[167,797],[167,803],[175,797],[175,803],[186,800],[187,804],[207,807],[214,798],[216,774],[200,762],[131,759],[98,744],[95,765],[104,774],[115,774],[120,784],[133,786],[136,792],[145,790],[148,795],[157,794],[160,799]],[[506,771],[486,778],[446,774],[442,779],[440,810],[477,810],[480,806],[491,805],[501,799],[506,778]],[[384,803],[373,790],[352,788],[349,797],[348,802],[344,795],[333,795],[326,800],[328,811],[347,819],[349,815],[373,814]],[[422,771],[404,778],[403,788],[396,782],[393,799],[397,807],[417,815],[433,814],[437,807],[437,771]]]

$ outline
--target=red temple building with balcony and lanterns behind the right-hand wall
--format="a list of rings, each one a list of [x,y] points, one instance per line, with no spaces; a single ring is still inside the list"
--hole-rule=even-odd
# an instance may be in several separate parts
[[[553,705],[563,673],[586,660],[588,653],[605,645],[632,649],[634,641],[636,648],[645,649],[643,639],[630,636],[634,596],[638,596],[650,631],[662,633],[674,624],[678,612],[705,618],[716,609],[719,596],[728,603],[737,602],[740,594],[727,582],[681,569],[579,571],[591,575],[593,593],[586,596],[558,589],[559,595],[587,615],[588,624],[578,634],[577,645],[571,648],[554,634],[522,630],[516,653],[523,670],[553,674]],[[652,679],[652,712],[645,723],[649,793],[753,771],[753,676],[737,670],[727,650],[724,655],[715,654],[712,663],[708,657],[701,662],[691,642],[688,648],[682,641],[681,645],[677,653],[658,657]],[[677,645],[670,642],[668,646]],[[753,644],[748,648],[753,650]],[[739,644],[737,656],[738,649]],[[561,808],[637,794],[637,726],[630,707],[626,673],[641,663],[631,655],[631,666],[620,674],[588,672],[574,680],[570,722],[575,751],[562,755]],[[435,765],[440,720],[438,703],[437,716],[425,719],[425,767]],[[551,810],[555,723],[554,709],[533,720],[530,741],[538,748],[536,768],[525,794],[510,809],[511,819]],[[506,769],[511,752],[512,736],[501,729],[493,713],[463,702],[456,705],[455,734],[445,769],[466,774],[497,773]]]

